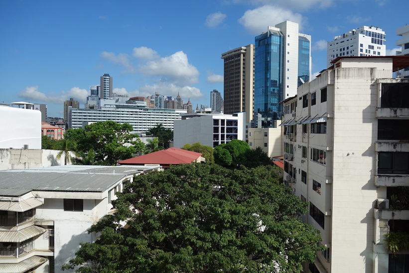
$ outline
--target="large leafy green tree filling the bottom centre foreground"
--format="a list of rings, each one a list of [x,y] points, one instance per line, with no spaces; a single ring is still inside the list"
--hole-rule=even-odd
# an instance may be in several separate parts
[[[323,250],[321,237],[274,168],[192,163],[136,176],[117,193],[116,212],[90,228],[96,242],[63,269],[299,273]]]

